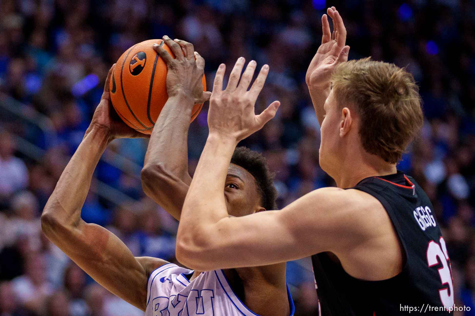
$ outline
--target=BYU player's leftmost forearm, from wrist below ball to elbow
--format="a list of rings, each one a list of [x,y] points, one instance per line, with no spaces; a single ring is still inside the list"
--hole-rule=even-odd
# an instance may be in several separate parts
[[[93,172],[109,142],[105,128],[90,127],[61,174],[56,188],[43,210],[45,233],[48,219],[63,226],[77,226],[81,220],[81,208],[91,185]]]

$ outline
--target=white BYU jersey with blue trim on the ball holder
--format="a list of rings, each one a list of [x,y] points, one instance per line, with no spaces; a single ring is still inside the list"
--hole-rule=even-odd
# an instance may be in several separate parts
[[[191,282],[192,270],[167,263],[157,268],[147,282],[145,316],[257,316],[230,288],[222,270],[202,272]],[[287,287],[290,315],[294,302]]]

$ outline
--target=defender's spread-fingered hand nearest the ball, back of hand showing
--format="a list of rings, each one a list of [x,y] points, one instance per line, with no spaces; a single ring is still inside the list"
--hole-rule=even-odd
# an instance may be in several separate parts
[[[276,115],[280,106],[279,101],[274,101],[261,114],[255,114],[254,105],[257,96],[264,87],[269,66],[264,65],[262,67],[251,89],[247,91],[257,63],[255,61],[249,62],[241,77],[240,74],[245,61],[244,57],[237,60],[229,75],[228,86],[225,90],[223,90],[223,77],[226,66],[224,63],[219,65],[214,79],[213,93],[209,101],[209,135],[225,136],[236,141],[236,143],[261,129]],[[239,77],[241,77],[240,81]]]

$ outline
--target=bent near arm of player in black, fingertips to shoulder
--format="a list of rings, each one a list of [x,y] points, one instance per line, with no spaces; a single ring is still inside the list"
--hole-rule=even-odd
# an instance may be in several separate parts
[[[232,153],[241,139],[274,117],[279,106],[278,101],[273,102],[255,115],[254,104],[269,67],[262,67],[246,91],[256,63],[247,65],[237,85],[243,66],[241,57],[224,91],[224,65],[216,73],[208,112],[209,136],[183,204],[177,259],[191,268],[207,271],[285,262],[328,250],[337,255],[348,253],[355,243],[367,238],[364,232],[374,231],[357,216],[366,204],[356,190],[320,189],[281,211],[228,217],[222,188]],[[354,229],[342,230],[348,223]]]

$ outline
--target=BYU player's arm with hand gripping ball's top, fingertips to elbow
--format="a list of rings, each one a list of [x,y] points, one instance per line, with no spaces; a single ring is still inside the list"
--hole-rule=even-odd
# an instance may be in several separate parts
[[[188,173],[191,110],[194,104],[208,100],[211,92],[203,92],[204,59],[196,53],[195,62],[193,45],[172,41],[168,36],[163,36],[163,40],[177,58],[173,59],[160,45],[154,46],[167,64],[169,98],[153,127],[142,169],[142,188],[171,216],[180,220],[191,183]]]

